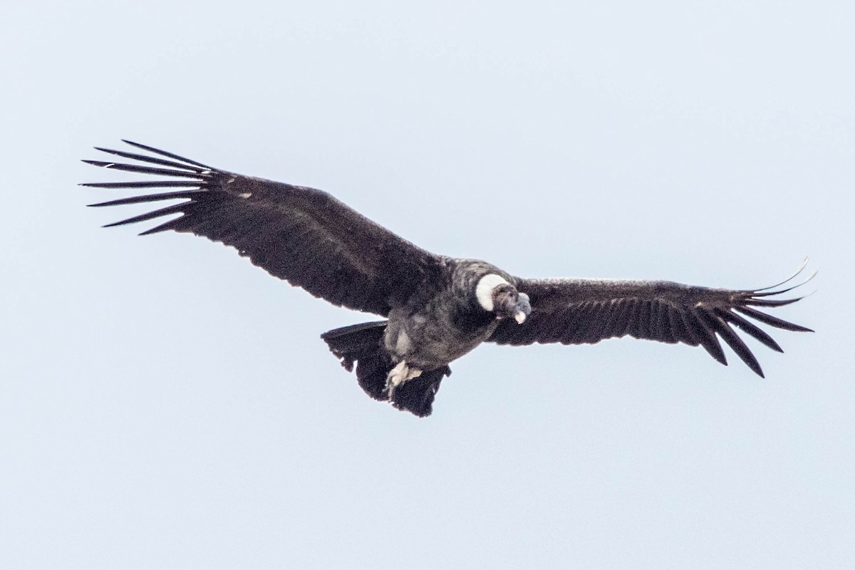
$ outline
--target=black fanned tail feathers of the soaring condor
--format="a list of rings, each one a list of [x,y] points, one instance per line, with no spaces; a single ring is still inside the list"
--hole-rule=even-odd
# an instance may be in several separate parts
[[[356,363],[357,381],[360,387],[375,400],[389,402],[395,408],[424,417],[433,411],[433,397],[439,391],[439,383],[451,374],[447,366],[426,370],[420,376],[398,385],[390,395],[386,379],[395,367],[395,362],[383,346],[386,321],[379,320],[359,325],[343,326],[321,334],[333,355],[341,360],[341,366],[353,371]]]

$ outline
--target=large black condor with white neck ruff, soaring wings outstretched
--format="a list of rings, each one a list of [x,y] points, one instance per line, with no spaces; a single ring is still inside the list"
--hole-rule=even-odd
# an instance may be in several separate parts
[[[182,202],[109,226],[181,214],[140,235],[173,230],[231,245],[315,297],[386,317],[321,338],[348,371],[356,364],[359,385],[370,397],[418,416],[431,413],[439,383],[451,374],[448,364],[484,341],[593,344],[630,335],[700,345],[727,364],[718,335],[763,376],[731,326],[779,352],[775,340],[746,316],[788,331],[811,330],[754,309],[798,301],[769,298],[792,290],[775,291],[792,277],[757,291],[671,281],[523,279],[486,261],[422,250],[325,191],[230,173],[124,142],[149,154],[96,149],[153,166],[84,162],[168,179],[84,186],[170,190],[91,205]]]

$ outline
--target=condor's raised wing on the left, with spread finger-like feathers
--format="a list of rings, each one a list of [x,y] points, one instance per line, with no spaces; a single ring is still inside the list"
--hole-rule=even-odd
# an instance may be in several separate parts
[[[173,230],[204,236],[231,245],[258,267],[315,297],[384,316],[390,304],[403,303],[439,272],[439,256],[398,237],[325,191],[229,173],[144,144],[124,142],[150,154],[96,149],[156,166],[84,162],[168,179],[84,186],[170,190],[91,205],[182,202],[109,226],[180,214],[140,235]]]

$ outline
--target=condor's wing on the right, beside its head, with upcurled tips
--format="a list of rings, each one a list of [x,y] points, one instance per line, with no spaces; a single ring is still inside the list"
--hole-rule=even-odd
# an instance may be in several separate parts
[[[796,274],[804,267],[803,264]],[[531,299],[532,314],[522,325],[504,320],[489,338],[492,342],[594,344],[604,338],[629,335],[670,344],[701,345],[716,361],[726,365],[728,361],[716,338],[718,335],[748,367],[763,376],[757,358],[732,326],[778,352],[783,350],[775,340],[746,316],[787,331],[811,331],[754,309],[799,301],[802,297],[767,298],[793,290],[795,287],[774,291],[787,281],[756,291],[733,291],[671,281],[518,280],[517,289]]]

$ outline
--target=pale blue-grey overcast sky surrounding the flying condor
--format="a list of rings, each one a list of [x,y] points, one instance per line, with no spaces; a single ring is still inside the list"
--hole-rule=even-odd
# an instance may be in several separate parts
[[[855,4],[45,2],[0,48],[0,567],[855,563]],[[728,352],[482,346],[434,414],[370,320],[79,182],[130,138],[524,276],[772,285]]]

